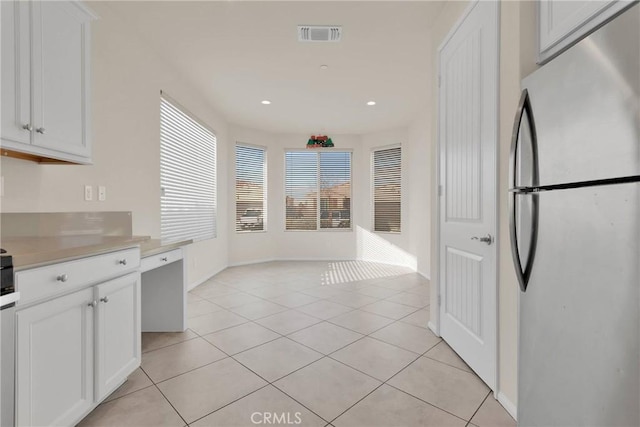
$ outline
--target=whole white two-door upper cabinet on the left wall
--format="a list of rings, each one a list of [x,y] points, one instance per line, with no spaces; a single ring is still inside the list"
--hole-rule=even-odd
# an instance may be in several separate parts
[[[2,2],[3,150],[91,162],[93,18],[78,2]]]

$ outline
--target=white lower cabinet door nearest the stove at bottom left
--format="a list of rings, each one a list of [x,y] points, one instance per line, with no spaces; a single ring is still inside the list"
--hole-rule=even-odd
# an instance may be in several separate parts
[[[16,424],[73,425],[93,405],[93,290],[16,314]]]

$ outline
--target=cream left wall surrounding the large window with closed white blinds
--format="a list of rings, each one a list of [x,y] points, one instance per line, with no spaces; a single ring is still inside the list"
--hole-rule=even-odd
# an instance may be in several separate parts
[[[39,165],[2,158],[3,212],[132,211],[137,235],[160,235],[160,90],[211,126],[219,159],[228,157],[227,125],[197,90],[154,53],[106,3],[89,5],[92,24],[93,161],[91,166]],[[227,203],[227,163],[218,161],[219,205]],[[85,202],[85,184],[107,187],[107,200]],[[218,238],[188,249],[188,280],[227,265],[228,216]]]

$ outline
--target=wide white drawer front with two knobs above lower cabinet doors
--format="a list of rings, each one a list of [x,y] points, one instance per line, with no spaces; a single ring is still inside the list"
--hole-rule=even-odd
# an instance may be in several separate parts
[[[19,305],[121,276],[139,266],[140,250],[134,248],[20,271],[15,276]]]

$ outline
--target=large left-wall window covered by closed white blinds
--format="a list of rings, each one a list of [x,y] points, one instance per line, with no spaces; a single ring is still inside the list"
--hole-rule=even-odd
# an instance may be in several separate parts
[[[160,102],[160,235],[216,237],[216,136],[173,101]]]

